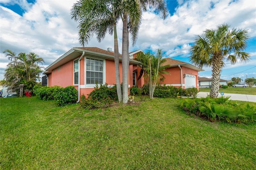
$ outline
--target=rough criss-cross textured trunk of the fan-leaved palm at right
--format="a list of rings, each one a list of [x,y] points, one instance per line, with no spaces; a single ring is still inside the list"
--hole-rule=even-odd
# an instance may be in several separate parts
[[[212,87],[210,97],[217,98],[220,89],[220,73],[222,68],[222,56],[212,58]]]

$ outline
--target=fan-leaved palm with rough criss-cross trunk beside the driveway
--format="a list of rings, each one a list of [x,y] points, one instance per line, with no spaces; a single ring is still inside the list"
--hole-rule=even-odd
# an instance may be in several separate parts
[[[250,54],[243,52],[249,38],[247,30],[232,28],[227,24],[217,29],[207,29],[202,36],[197,36],[190,52],[190,61],[198,67],[212,67],[212,87],[210,97],[218,97],[220,74],[224,61],[235,64],[247,62]]]

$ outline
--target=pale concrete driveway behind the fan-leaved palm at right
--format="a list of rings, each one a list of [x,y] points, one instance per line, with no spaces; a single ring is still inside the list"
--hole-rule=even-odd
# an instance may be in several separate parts
[[[197,98],[206,97],[210,92],[199,92]],[[220,93],[218,97],[220,97]],[[232,93],[224,93],[225,97],[231,96],[229,100],[239,100],[239,101],[251,101],[256,102],[256,95],[241,95],[241,94],[232,94]]]

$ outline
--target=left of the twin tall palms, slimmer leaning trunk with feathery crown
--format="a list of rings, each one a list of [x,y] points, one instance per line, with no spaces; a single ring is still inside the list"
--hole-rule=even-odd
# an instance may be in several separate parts
[[[71,9],[71,18],[78,22],[80,44],[85,46],[96,34],[101,42],[106,33],[114,32],[114,61],[118,101],[122,101],[119,72],[119,50],[116,24],[120,19],[121,6],[118,0],[80,0]]]

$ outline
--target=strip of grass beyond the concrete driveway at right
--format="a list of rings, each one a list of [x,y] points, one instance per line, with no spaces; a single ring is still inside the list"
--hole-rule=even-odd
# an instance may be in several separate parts
[[[210,88],[200,88],[199,91],[210,93],[211,89]],[[228,87],[227,89],[220,89],[219,92],[244,94],[244,95],[256,95],[256,88],[255,87],[246,87],[246,88],[243,88],[243,87]]]

